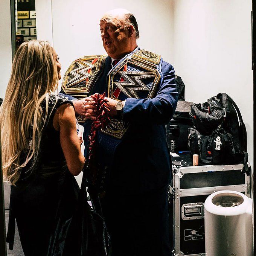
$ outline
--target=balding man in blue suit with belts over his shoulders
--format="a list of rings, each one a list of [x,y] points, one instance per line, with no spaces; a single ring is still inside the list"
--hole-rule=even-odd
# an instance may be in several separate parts
[[[113,255],[171,255],[171,159],[165,124],[178,100],[174,69],[159,55],[139,49],[137,21],[127,10],[107,12],[100,29],[108,56],[90,95],[107,92],[112,128],[118,130],[124,124],[120,136],[116,131],[108,134],[113,132],[110,127],[112,130],[99,131],[98,137],[97,158],[105,184],[99,187],[104,190],[102,207]],[[94,102],[87,97],[73,103],[76,114],[87,118],[84,142],[88,157],[90,119],[96,119]]]

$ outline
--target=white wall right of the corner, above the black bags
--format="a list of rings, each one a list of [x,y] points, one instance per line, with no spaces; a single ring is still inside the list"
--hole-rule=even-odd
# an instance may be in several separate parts
[[[204,102],[224,92],[236,102],[253,163],[251,10],[251,0],[174,0],[172,63],[186,85],[187,101]]]

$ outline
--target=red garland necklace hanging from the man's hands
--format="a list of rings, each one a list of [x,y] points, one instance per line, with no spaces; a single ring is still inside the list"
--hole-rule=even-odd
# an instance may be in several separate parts
[[[107,99],[105,99],[105,93],[99,94],[95,93],[91,96],[95,101],[97,119],[94,120],[91,124],[91,131],[89,135],[89,157],[88,157],[88,168],[90,169],[91,173],[91,180],[93,185],[96,182],[97,178],[97,163],[96,163],[96,138],[97,138],[97,131],[101,128],[104,128],[107,123],[110,121],[109,112],[110,109],[107,105]]]

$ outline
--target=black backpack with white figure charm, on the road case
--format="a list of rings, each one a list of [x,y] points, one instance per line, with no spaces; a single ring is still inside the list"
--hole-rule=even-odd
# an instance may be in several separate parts
[[[191,105],[190,116],[199,136],[205,141],[203,148],[200,145],[203,158],[201,162],[216,163],[216,159],[219,159],[219,163],[243,163],[243,171],[247,174],[250,173],[245,124],[238,106],[229,95],[219,93],[209,98],[204,104]],[[207,138],[204,138],[205,136]],[[213,142],[216,140],[216,136],[226,141],[225,152],[229,153],[225,154],[225,157],[223,157],[224,154],[216,157],[214,149],[213,152],[209,150],[210,147],[214,148]],[[211,140],[211,138],[215,139]],[[194,144],[192,143],[192,145]],[[194,149],[192,149],[192,153],[193,151]],[[210,155],[206,156],[209,152]]]

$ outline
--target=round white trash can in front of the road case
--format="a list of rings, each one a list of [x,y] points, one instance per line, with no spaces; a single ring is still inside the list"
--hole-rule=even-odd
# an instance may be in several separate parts
[[[206,256],[253,256],[252,199],[232,190],[204,203]]]

